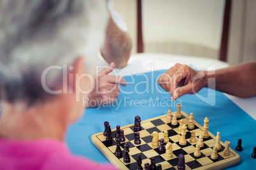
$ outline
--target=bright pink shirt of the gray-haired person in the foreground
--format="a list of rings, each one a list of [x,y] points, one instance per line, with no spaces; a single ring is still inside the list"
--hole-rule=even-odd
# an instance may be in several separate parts
[[[0,169],[115,169],[100,166],[84,157],[71,155],[64,142],[57,140],[0,140]]]

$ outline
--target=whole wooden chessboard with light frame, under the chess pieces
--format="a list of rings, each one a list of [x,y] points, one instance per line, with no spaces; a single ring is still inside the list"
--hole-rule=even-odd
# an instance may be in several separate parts
[[[175,114],[173,112],[172,114]],[[178,128],[180,126],[179,122],[183,119],[183,124],[188,125],[189,116],[182,112],[182,117],[178,119],[178,124],[173,126],[171,122],[167,122],[167,115],[160,115],[159,117],[154,117],[145,121],[141,117],[141,131],[139,131],[139,136],[141,139],[141,144],[134,144],[135,133],[134,124],[123,126],[120,129],[124,130],[125,141],[121,143],[122,156],[118,158],[114,155],[116,147],[115,142],[115,130],[111,129],[111,136],[113,137],[112,143],[106,142],[106,136],[103,132],[92,135],[92,143],[97,147],[97,149],[108,159],[113,166],[118,169],[136,169],[138,154],[141,155],[142,164],[150,164],[150,158],[155,157],[155,164],[161,164],[162,169],[178,169],[178,155],[183,154],[185,157],[185,169],[224,169],[225,167],[233,166],[240,162],[239,155],[234,152],[231,148],[230,155],[224,155],[225,143],[220,141],[221,149],[218,150],[218,159],[211,159],[211,154],[213,152],[213,147],[216,143],[216,137],[209,131],[209,138],[204,138],[204,146],[200,148],[201,156],[195,157],[194,152],[196,150],[196,143],[190,143],[189,139],[191,137],[190,131],[196,131],[196,139],[198,141],[199,135],[203,132],[203,126],[194,121],[194,129],[188,129],[186,131],[186,145],[180,145],[179,141],[181,138],[181,131]],[[104,126],[103,126],[104,128]],[[160,152],[158,148],[152,147],[152,138],[150,134],[153,131],[159,133],[159,140],[164,138],[164,131],[168,132],[169,141],[173,145],[173,157],[171,159],[166,158],[165,152]],[[221,132],[220,132],[221,136]],[[124,143],[129,144],[129,155],[131,162],[124,163]]]

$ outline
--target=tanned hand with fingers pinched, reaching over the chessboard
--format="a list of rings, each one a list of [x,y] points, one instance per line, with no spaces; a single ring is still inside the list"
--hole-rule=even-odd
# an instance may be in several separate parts
[[[180,63],[162,74],[157,82],[165,91],[171,93],[173,101],[186,94],[195,94],[206,86],[203,71],[196,71]]]

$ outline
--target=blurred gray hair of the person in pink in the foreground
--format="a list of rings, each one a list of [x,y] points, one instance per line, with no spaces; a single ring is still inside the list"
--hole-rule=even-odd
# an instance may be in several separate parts
[[[106,0],[1,0],[2,100],[28,105],[46,100],[51,95],[41,85],[43,70],[71,65],[78,56],[92,62],[107,18]],[[49,89],[62,84],[62,71],[49,72],[46,84]]]

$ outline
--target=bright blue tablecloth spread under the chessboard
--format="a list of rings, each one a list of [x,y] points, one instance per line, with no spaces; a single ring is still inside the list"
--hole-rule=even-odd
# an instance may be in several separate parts
[[[81,119],[68,129],[66,142],[71,152],[94,162],[108,162],[90,141],[92,134],[104,131],[104,121],[110,122],[111,128],[125,126],[134,123],[136,115],[143,121],[167,114],[168,109],[176,111],[176,103],[181,103],[181,110],[187,114],[193,112],[194,120],[202,126],[204,117],[208,117],[208,130],[215,136],[220,131],[221,140],[231,141],[233,150],[238,139],[243,140],[243,151],[237,152],[241,157],[240,163],[227,169],[255,169],[256,159],[252,159],[251,155],[253,147],[256,147],[256,121],[225,95],[208,88],[202,89],[197,95],[185,95],[172,102],[169,93],[162,94],[164,90],[157,85],[157,79],[165,71],[124,77],[128,84],[121,88],[117,103],[87,108]]]

